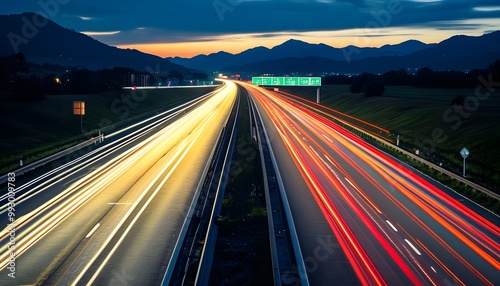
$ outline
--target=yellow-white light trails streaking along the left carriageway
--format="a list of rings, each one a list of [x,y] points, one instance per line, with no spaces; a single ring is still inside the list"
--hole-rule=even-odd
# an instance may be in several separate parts
[[[140,214],[144,212],[147,205],[155,197],[155,194],[159,192],[161,186],[176,170],[176,167],[184,160],[188,153],[193,154],[193,152],[196,152],[194,146],[199,144],[200,141],[205,140],[202,139],[204,137],[217,138],[218,135],[216,133],[222,130],[223,124],[227,121],[230,110],[236,100],[236,90],[234,83],[227,82],[223,88],[203,96],[201,99],[190,101],[173,110],[141,122],[140,126],[142,127],[139,125],[133,126],[134,128],[138,128],[138,130],[118,138],[110,146],[97,148],[91,154],[84,155],[75,161],[65,164],[60,168],[62,171],[61,174],[57,174],[44,181],[48,176],[56,174],[56,171],[53,171],[48,175],[43,175],[21,186],[18,192],[21,190],[23,192],[22,194],[19,193],[16,197],[17,205],[31,202],[36,195],[51,190],[56,185],[64,185],[65,187],[54,197],[34,207],[23,216],[17,217],[14,222],[16,224],[16,259],[26,255],[34,245],[46,241],[46,238],[50,237],[55,229],[61,227],[67,220],[72,219],[76,213],[79,213],[94,198],[106,197],[107,193],[122,192],[125,194],[138,190],[141,187],[135,186],[135,184],[144,175],[141,170],[150,171],[153,168],[152,166],[157,165],[160,161],[165,161],[161,168],[157,168],[157,178],[152,180],[150,185],[142,189],[141,192],[137,192],[137,195],[131,195],[131,198],[135,199],[134,201],[103,202],[103,205],[106,206],[103,209],[111,209],[115,205],[125,208],[127,213],[130,213],[133,209],[140,209],[132,223],[128,225],[127,231],[121,234],[120,242],[123,241],[130,228],[139,219]],[[157,128],[157,126],[167,121],[169,123],[166,127],[151,132],[152,128]],[[211,133],[209,134],[208,132]],[[118,137],[117,135],[121,135],[120,132],[115,132],[108,136]],[[68,178],[77,174],[82,168],[101,158],[105,158],[106,155],[113,152],[115,153],[112,159],[108,159],[107,162],[98,168],[73,180],[70,184],[65,184]],[[138,172],[134,173],[132,171],[134,169],[137,169]],[[130,176],[131,174],[132,177]],[[130,182],[132,185],[124,185],[121,183],[122,181]],[[116,186],[119,186],[119,188],[116,188]],[[148,199],[147,203],[140,206],[136,205],[145,196],[147,191],[152,188],[155,188],[155,191],[153,195],[148,194],[150,197],[145,198]],[[123,195],[119,195],[118,197],[121,196]],[[1,206],[0,212],[5,211],[6,207]],[[88,215],[91,216],[92,214],[89,213]],[[121,220],[121,223],[125,219],[126,216]],[[90,231],[87,231],[86,239],[92,239],[96,233],[107,231],[100,222],[95,222],[93,225],[94,227]],[[112,237],[113,234],[112,232],[109,237]],[[9,264],[11,252],[8,248],[8,229],[4,229],[1,232],[0,240],[2,241],[2,247],[0,248],[0,269],[5,269]],[[115,248],[108,254],[105,261],[109,260],[119,245],[120,243],[115,245]],[[65,245],[61,245],[60,247],[64,248]],[[51,262],[44,261],[43,263],[50,264]],[[101,264],[99,269],[102,269],[105,264]],[[92,279],[95,279],[97,274]],[[33,273],[32,275],[36,274]],[[34,279],[36,279],[36,276]]]

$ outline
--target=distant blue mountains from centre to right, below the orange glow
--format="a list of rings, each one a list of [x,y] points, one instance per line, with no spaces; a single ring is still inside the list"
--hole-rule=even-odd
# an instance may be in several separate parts
[[[168,58],[201,70],[235,73],[381,73],[389,70],[471,70],[500,59],[500,31],[482,36],[454,36],[437,44],[409,40],[380,48],[334,48],[289,40],[271,49],[256,47],[239,54],[218,52],[193,58]]]

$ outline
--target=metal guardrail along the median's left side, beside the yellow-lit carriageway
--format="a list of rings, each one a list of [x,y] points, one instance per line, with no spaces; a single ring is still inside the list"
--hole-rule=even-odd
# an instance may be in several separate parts
[[[227,179],[228,168],[230,166],[230,155],[234,147],[233,133],[237,122],[239,105],[235,103],[232,108],[230,118],[226,121],[226,127],[222,128],[218,141],[212,148],[209,160],[202,173],[202,180],[198,184],[195,195],[191,202],[188,215],[184,220],[173,254],[169,260],[167,270],[163,276],[161,285],[181,285],[188,277],[193,267],[197,266],[195,285],[207,285],[212,263],[213,248],[215,247],[217,237],[217,226],[214,224],[219,215],[224,195],[224,185]],[[228,127],[231,126],[231,127]],[[230,129],[230,130],[229,130]],[[227,150],[224,152],[224,145]],[[222,148],[222,149],[221,149]],[[228,157],[229,156],[229,157]],[[207,180],[209,170],[212,170],[211,177]],[[221,168],[220,170],[218,170]],[[213,197],[213,198],[212,198]],[[213,204],[209,206],[213,199]],[[208,215],[208,217],[206,217]],[[204,220],[202,222],[200,220]],[[198,225],[196,225],[198,223]],[[206,223],[206,225],[201,225]],[[192,255],[196,239],[204,238],[203,248],[199,260]],[[187,261],[185,258],[187,257]],[[180,261],[179,261],[180,260]],[[196,262],[198,260],[199,262]]]

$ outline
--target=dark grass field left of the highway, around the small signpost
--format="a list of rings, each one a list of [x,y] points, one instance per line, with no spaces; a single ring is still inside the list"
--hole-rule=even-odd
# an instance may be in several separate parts
[[[205,94],[214,87],[110,91],[85,95],[48,95],[38,102],[0,98],[0,173],[19,166],[23,156],[30,163],[63,148],[105,134],[118,125],[165,110]],[[85,101],[83,132],[80,116],[73,115],[73,101]]]

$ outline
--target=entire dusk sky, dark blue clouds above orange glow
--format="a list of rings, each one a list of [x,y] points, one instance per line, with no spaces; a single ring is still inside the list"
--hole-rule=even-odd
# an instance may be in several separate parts
[[[500,29],[498,0],[39,0],[0,14],[37,12],[119,48],[161,57],[239,53],[288,39],[342,48]]]

